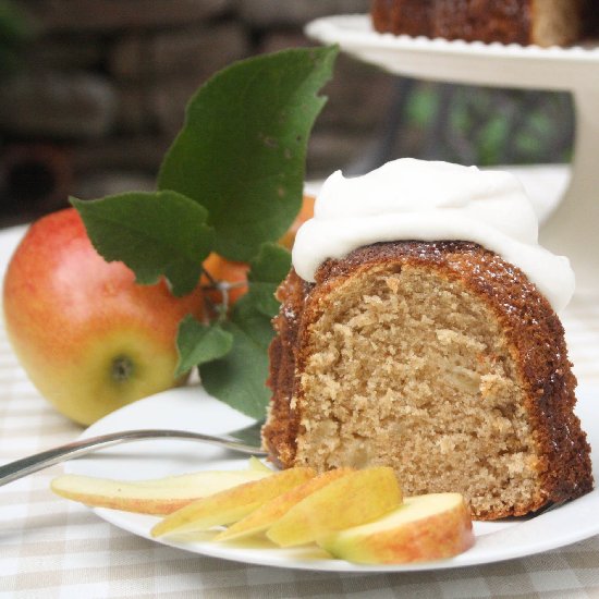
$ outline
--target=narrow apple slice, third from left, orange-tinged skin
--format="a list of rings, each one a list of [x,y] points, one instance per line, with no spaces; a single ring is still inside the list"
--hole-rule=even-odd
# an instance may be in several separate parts
[[[303,485],[294,487],[286,493],[280,494],[268,503],[265,503],[243,519],[230,526],[227,530],[217,535],[212,540],[229,541],[264,533],[303,499],[352,472],[354,472],[352,468],[339,468],[310,478]]]

